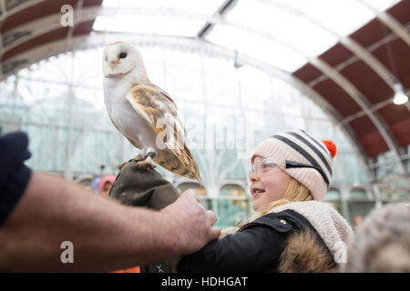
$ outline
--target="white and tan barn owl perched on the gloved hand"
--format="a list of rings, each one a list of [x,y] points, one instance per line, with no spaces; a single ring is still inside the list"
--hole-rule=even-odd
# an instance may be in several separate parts
[[[149,82],[138,49],[123,42],[107,45],[103,73],[109,118],[141,150],[135,159],[151,167],[155,167],[154,161],[174,174],[200,181],[177,106],[165,91]]]

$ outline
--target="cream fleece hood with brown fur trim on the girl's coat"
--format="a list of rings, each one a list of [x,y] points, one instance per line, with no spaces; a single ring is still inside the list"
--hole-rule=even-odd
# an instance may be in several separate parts
[[[293,210],[309,225],[293,231],[280,257],[278,271],[283,273],[338,272],[345,262],[346,244],[352,228],[332,207],[322,202],[292,202],[274,207],[269,213]],[[239,228],[222,230],[221,237],[237,233]]]

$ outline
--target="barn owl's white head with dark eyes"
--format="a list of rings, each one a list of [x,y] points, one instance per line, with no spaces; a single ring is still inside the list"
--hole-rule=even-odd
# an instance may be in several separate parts
[[[103,53],[103,72],[105,77],[126,75],[136,67],[145,70],[138,49],[128,43],[107,45]]]

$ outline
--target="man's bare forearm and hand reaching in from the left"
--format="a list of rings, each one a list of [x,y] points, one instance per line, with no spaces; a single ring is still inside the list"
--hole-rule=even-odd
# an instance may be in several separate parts
[[[67,180],[33,173],[0,227],[0,270],[112,271],[193,253],[220,234],[216,216],[187,191],[160,212],[122,206]],[[63,264],[63,241],[74,264]]]

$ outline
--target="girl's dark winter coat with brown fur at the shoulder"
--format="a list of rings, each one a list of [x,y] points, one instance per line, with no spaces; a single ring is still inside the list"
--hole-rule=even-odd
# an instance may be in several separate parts
[[[336,272],[337,264],[309,221],[293,210],[270,213],[238,233],[183,256],[179,272]]]

